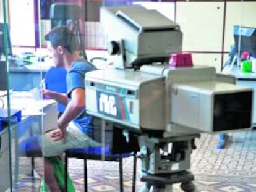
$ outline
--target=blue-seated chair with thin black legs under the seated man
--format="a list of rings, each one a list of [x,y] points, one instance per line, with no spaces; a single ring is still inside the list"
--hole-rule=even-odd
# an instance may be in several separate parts
[[[98,122],[98,124],[96,123]],[[99,141],[101,138],[101,119],[95,119],[93,122],[94,128],[91,138],[96,141]],[[87,160],[103,160],[103,161],[116,161],[119,162],[119,188],[120,191],[124,191],[123,186],[123,172],[122,172],[122,159],[126,157],[134,157],[134,166],[133,166],[133,177],[132,177],[132,191],[135,192],[135,182],[136,182],[136,166],[137,166],[137,156],[136,152],[139,151],[137,136],[130,134],[129,136],[124,136],[123,130],[121,127],[113,125],[111,122],[106,122],[104,128],[104,144],[105,146],[100,147],[91,147],[91,148],[77,148],[70,149],[65,152],[65,179],[66,179],[66,189],[67,189],[67,170],[68,170],[68,159],[77,158],[84,160],[84,189],[85,192],[88,191],[87,186]],[[100,136],[100,138],[99,138]],[[98,137],[98,138],[97,138]],[[103,141],[101,142],[103,143]]]

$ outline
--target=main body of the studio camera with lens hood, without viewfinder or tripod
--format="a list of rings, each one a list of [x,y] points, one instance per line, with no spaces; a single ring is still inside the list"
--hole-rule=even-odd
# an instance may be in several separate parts
[[[103,69],[88,72],[85,85],[88,114],[135,130],[176,124],[216,133],[252,124],[252,88],[221,81],[213,67]]]

